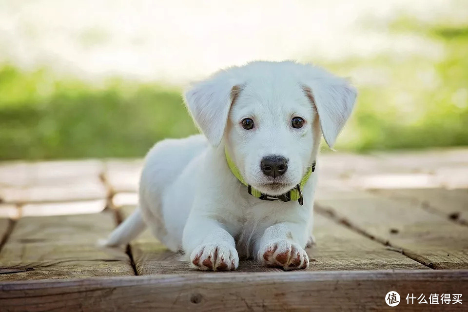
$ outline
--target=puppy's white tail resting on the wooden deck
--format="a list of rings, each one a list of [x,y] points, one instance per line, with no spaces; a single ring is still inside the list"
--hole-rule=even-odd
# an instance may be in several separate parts
[[[146,229],[145,221],[139,208],[125,219],[101,244],[106,247],[126,245]]]

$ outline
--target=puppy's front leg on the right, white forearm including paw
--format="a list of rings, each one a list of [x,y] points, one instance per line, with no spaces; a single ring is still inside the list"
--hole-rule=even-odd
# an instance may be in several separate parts
[[[257,259],[266,266],[284,270],[306,269],[309,256],[301,245],[308,237],[304,226],[289,222],[278,223],[265,230],[257,246]],[[303,240],[304,243],[299,243]]]

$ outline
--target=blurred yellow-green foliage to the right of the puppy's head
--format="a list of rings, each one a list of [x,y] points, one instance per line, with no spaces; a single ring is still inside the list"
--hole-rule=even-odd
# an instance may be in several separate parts
[[[364,69],[372,78],[358,85],[356,109],[337,148],[364,152],[468,145],[468,27],[401,19],[390,30],[429,39],[443,55],[436,60],[380,55],[326,64],[343,75]]]

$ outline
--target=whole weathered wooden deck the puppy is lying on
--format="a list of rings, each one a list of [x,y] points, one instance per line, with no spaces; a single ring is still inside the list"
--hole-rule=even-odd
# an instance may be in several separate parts
[[[1,312],[468,311],[468,149],[322,155],[317,245],[296,272],[199,272],[148,232],[98,248],[134,209],[141,164],[0,164]],[[407,304],[433,293],[463,303]]]

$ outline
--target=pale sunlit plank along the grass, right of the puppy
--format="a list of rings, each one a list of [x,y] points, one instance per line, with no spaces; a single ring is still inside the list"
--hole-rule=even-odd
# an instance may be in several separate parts
[[[355,155],[324,153],[320,182],[361,189],[468,188],[468,149]]]

